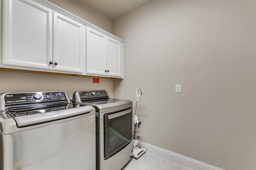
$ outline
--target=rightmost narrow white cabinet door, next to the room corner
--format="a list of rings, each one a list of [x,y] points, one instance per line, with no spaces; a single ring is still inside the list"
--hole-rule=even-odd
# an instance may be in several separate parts
[[[122,53],[121,53],[122,43],[111,39],[107,39],[107,75],[121,77],[121,63],[122,63]]]

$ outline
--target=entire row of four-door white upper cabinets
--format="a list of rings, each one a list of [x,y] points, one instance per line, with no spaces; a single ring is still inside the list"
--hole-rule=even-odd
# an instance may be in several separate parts
[[[123,40],[46,0],[4,0],[0,67],[123,78]]]

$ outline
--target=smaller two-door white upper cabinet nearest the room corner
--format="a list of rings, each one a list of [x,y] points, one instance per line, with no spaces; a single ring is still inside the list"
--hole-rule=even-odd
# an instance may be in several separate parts
[[[122,77],[122,43],[86,28],[86,74]]]

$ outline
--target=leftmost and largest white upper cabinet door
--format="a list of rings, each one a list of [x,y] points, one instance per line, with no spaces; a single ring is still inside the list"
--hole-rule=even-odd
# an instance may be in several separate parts
[[[2,64],[52,69],[52,10],[31,0],[4,0]]]

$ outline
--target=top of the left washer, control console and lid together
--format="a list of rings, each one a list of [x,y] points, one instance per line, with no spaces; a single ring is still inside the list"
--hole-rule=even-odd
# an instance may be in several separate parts
[[[0,124],[3,125],[3,121],[9,119],[8,122],[13,125],[11,118],[18,128],[67,119],[91,113],[94,109],[90,106],[73,107],[68,95],[63,91],[4,93],[0,95],[0,105]],[[6,116],[3,115],[2,107]]]

